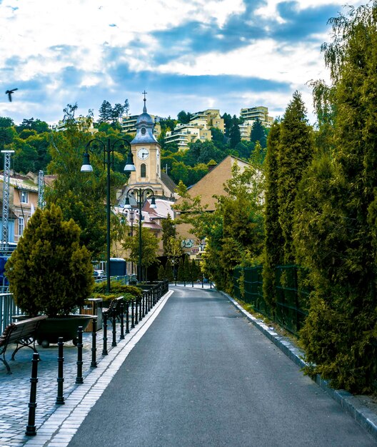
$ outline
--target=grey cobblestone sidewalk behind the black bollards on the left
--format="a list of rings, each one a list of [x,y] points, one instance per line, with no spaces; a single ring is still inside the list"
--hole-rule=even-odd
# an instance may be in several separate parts
[[[131,329],[131,333],[137,330]],[[126,328],[124,328],[126,331]],[[119,343],[121,328],[116,324],[116,341]],[[109,323],[107,332],[107,349],[111,353],[112,326]],[[96,360],[98,363],[106,361],[107,356],[102,355],[103,331],[97,331],[96,335]],[[91,367],[92,359],[92,334],[83,333],[83,366],[84,378],[96,368]],[[13,348],[13,349],[12,349]],[[19,447],[31,439],[25,436],[26,425],[29,416],[31,359],[33,351],[22,348],[16,353],[15,361],[11,361],[11,353],[15,346],[9,346],[6,352],[6,360],[11,367],[11,374],[6,373],[4,363],[0,362],[0,447]],[[58,375],[58,346],[49,348],[38,347],[41,361],[38,363],[37,383],[37,407],[36,428],[38,431],[46,419],[51,416],[59,405],[56,405],[57,375]],[[81,385],[76,384],[77,376],[77,348],[69,341],[64,343],[64,399]],[[36,436],[37,438],[37,436]],[[37,440],[36,440],[37,441]],[[38,445],[38,443],[36,443]]]

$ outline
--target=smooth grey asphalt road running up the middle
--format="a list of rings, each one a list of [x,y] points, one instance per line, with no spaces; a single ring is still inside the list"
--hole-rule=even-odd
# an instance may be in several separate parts
[[[173,289],[69,446],[376,446],[221,294]]]

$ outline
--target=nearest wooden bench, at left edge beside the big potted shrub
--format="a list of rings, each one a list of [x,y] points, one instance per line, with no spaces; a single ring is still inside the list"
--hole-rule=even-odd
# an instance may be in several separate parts
[[[2,356],[2,358],[0,357],[0,360],[6,366],[6,371],[9,374],[11,374],[11,368],[5,359],[6,348],[8,348],[11,343],[16,343],[16,349],[11,355],[11,360],[14,360],[16,352],[24,346],[31,348],[34,352],[38,352],[35,347],[35,334],[39,323],[41,323],[44,318],[47,318],[47,316],[42,315],[34,318],[27,318],[26,320],[11,323],[4,329],[4,332],[0,337],[0,356]]]

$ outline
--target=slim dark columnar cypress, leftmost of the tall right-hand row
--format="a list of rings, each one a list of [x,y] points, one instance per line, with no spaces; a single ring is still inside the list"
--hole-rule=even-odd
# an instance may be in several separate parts
[[[278,208],[278,145],[280,124],[274,121],[267,139],[266,194],[264,214],[263,295],[272,310],[276,306],[275,267],[281,264],[283,233],[279,223]]]

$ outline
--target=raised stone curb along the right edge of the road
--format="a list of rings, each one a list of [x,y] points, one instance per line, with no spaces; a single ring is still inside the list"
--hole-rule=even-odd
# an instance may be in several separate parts
[[[236,300],[231,298],[227,293],[223,291],[218,291],[223,296],[225,296],[233,306],[235,306],[238,311],[240,311],[243,316],[245,316],[248,321],[253,323],[253,325],[259,329],[269,340],[271,340],[283,353],[286,354],[288,358],[291,359],[297,366],[303,368],[307,365],[305,361],[303,361],[304,352],[294,346],[291,341],[288,341],[283,336],[279,336],[273,329],[270,329],[263,321],[251,315],[248,311],[246,311],[240,304],[237,303]],[[363,428],[368,431],[368,433],[373,436],[373,438],[377,441],[377,414],[371,411],[368,406],[362,403],[356,396],[348,393],[345,390],[336,390],[331,388],[328,384],[328,381],[323,380],[319,374],[313,378],[313,381],[326,391],[329,396],[331,396],[334,401],[338,402],[340,406],[343,408],[346,413],[350,414],[356,422],[358,422]]]

